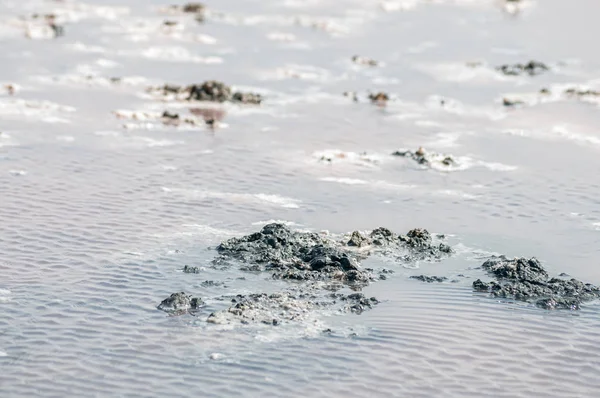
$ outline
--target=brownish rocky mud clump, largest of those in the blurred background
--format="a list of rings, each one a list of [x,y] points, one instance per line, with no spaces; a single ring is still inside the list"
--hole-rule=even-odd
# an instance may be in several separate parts
[[[263,101],[260,94],[233,92],[231,87],[216,80],[207,80],[202,84],[188,86],[165,84],[159,87],[149,87],[146,91],[165,97],[174,96],[178,100],[186,101],[233,102],[253,105],[260,105]]]

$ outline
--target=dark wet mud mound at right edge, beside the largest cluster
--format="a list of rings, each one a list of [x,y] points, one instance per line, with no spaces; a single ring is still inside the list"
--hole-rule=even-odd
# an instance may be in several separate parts
[[[550,278],[536,258],[504,256],[490,259],[481,266],[496,281],[473,282],[473,288],[494,297],[534,302],[547,309],[579,309],[580,304],[600,297],[600,288],[577,279]]]

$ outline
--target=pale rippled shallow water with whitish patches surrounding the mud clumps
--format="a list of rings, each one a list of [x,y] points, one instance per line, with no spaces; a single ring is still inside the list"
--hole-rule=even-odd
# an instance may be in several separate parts
[[[471,288],[491,253],[600,283],[598,104],[536,94],[598,87],[597,2],[525,2],[512,15],[493,0],[229,0],[207,2],[203,24],[155,0],[98,4],[0,4],[1,83],[18,88],[0,94],[1,396],[600,391],[600,303],[543,311]],[[35,25],[42,37],[26,38],[18,18],[36,12],[66,18],[64,36]],[[183,30],[165,32],[165,19]],[[530,59],[552,70],[494,70]],[[185,111],[145,87],[213,78],[266,100],[225,105],[214,131],[113,113]],[[506,108],[507,95],[534,101]],[[459,166],[390,156],[420,146]],[[156,309],[182,290],[211,311],[221,295],[284,288],[234,269],[181,272],[269,220],[334,234],[424,227],[458,254],[416,270],[367,260],[396,273],[365,289],[382,303],[360,316],[226,328]],[[407,278],[421,273],[466,278]]]

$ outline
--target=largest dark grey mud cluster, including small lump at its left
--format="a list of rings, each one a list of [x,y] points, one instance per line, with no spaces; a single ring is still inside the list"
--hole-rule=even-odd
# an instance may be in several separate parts
[[[377,228],[369,233],[354,231],[335,240],[273,223],[253,234],[222,242],[216,252],[212,261],[215,268],[237,266],[244,271],[267,273],[272,280],[289,281],[290,287],[275,293],[223,296],[219,300],[230,300],[231,305],[211,312],[206,321],[279,325],[312,318],[316,311],[360,314],[373,308],[379,301],[360,291],[393,271],[362,267],[361,261],[372,254],[392,255],[399,262],[434,261],[452,254],[452,248],[434,242],[424,229],[398,235]],[[200,271],[186,266],[184,272]],[[194,314],[202,303],[185,293],[174,293],[158,308],[172,314]]]

